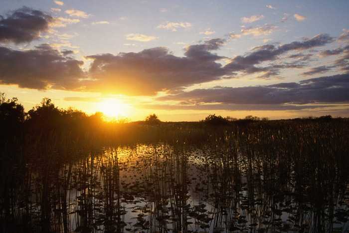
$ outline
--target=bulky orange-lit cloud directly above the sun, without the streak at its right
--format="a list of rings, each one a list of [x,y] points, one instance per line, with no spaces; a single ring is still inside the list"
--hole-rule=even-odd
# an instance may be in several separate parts
[[[176,91],[195,83],[218,80],[225,71],[215,62],[220,56],[210,51],[219,49],[222,39],[190,45],[184,57],[174,56],[167,48],[158,47],[134,53],[99,54],[93,59],[91,80],[86,90],[128,95],[154,95],[158,91]]]

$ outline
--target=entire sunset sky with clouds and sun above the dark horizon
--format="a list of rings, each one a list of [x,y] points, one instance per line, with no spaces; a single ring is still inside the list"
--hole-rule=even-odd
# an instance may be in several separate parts
[[[0,92],[131,121],[349,117],[348,0],[0,0]]]

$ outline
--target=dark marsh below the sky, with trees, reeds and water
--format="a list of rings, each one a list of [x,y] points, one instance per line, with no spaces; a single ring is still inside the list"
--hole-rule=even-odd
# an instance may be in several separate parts
[[[0,232],[348,232],[349,121],[108,123],[0,99]]]

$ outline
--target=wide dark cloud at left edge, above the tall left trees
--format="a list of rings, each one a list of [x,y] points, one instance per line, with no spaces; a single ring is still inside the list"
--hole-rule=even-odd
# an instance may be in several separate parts
[[[0,83],[34,89],[76,89],[82,61],[64,57],[48,44],[31,50],[0,47]]]

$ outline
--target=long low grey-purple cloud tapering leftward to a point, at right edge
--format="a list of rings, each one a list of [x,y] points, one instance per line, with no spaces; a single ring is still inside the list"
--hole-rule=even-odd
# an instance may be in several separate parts
[[[195,89],[159,100],[223,104],[310,104],[349,101],[349,74],[312,78],[269,86]]]

